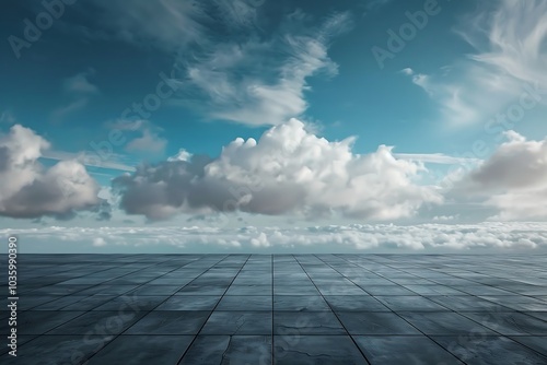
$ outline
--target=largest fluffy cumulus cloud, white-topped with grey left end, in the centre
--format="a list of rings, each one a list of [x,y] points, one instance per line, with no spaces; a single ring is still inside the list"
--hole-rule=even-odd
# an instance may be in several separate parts
[[[432,187],[414,182],[424,170],[421,164],[395,158],[385,145],[354,154],[352,142],[329,142],[291,119],[258,141],[237,138],[217,158],[194,155],[143,165],[114,185],[127,213],[151,220],[233,210],[396,220],[424,203],[442,202]]]

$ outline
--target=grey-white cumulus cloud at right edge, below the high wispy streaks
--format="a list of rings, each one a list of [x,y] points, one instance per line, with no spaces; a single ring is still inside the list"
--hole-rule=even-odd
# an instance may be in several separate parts
[[[467,174],[456,191],[486,197],[499,210],[492,220],[547,217],[547,139],[526,140],[514,131],[479,167]]]

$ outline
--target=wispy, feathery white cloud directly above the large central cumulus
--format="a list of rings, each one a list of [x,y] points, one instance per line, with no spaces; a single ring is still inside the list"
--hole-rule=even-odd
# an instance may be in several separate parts
[[[327,50],[351,20],[348,13],[338,13],[315,32],[284,30],[293,30],[294,22],[302,27],[305,15],[288,16],[283,24],[290,25],[281,25],[270,39],[257,40],[251,32],[245,40],[202,45],[195,60],[179,59],[185,105],[199,107],[211,118],[253,126],[278,125],[301,116],[307,109],[307,79],[338,72]],[[188,101],[189,95],[199,95],[199,99]]]

